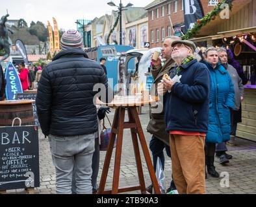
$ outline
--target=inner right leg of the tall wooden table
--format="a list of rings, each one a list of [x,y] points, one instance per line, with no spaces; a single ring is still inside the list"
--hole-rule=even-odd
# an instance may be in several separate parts
[[[131,112],[131,108],[128,108],[128,116],[129,116],[129,122],[135,123],[133,113]],[[142,194],[146,194],[147,191],[146,191],[146,185],[145,185],[144,174],[142,169],[142,160],[140,158],[140,149],[138,147],[138,137],[136,134],[136,129],[134,128],[131,129],[131,136],[133,139],[133,149],[134,149],[134,155],[135,155],[136,166],[138,171],[138,180],[141,186],[141,192]]]

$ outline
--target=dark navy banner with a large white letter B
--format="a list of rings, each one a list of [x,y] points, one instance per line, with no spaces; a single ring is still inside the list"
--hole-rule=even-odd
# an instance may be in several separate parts
[[[198,19],[203,18],[203,7],[199,0],[183,0],[186,32],[193,28]]]

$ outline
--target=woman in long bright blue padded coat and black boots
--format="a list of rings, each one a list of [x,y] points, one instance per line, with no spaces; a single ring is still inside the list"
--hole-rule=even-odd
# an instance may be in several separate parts
[[[216,143],[227,142],[231,133],[231,109],[235,105],[234,87],[229,73],[219,63],[218,52],[214,47],[206,50],[206,65],[211,74],[209,102],[209,127],[206,136],[206,165],[212,177],[219,177],[214,167]]]

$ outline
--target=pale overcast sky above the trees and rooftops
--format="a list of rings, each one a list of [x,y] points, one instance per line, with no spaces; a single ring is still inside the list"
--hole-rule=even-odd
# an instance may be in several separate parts
[[[28,26],[31,21],[42,21],[47,25],[50,21],[53,27],[53,19],[55,17],[58,28],[76,28],[76,19],[94,19],[105,14],[111,14],[112,10],[116,10],[114,6],[107,3],[110,0],[0,0],[0,16],[8,14],[8,19],[25,19]],[[119,5],[119,0],[112,0]],[[144,7],[153,0],[122,0],[123,5],[133,3],[136,7]]]

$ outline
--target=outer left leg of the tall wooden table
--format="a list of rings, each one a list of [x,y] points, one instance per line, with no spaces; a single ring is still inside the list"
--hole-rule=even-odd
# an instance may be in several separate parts
[[[114,129],[118,128],[119,114],[120,114],[119,109],[116,109],[115,114],[114,114],[114,121],[113,121],[113,125],[112,125],[112,128],[114,128]],[[106,153],[106,157],[105,157],[105,161],[104,161],[104,165],[103,165],[103,170],[101,173],[101,181],[99,182],[98,194],[102,194],[105,189],[107,175],[109,173],[109,164],[110,164],[110,160],[111,160],[111,156],[112,156],[112,152],[113,152],[113,148],[114,148],[115,137],[116,137],[116,134],[114,134],[114,132],[111,130],[110,143],[109,143],[109,147],[107,149],[107,153]]]

